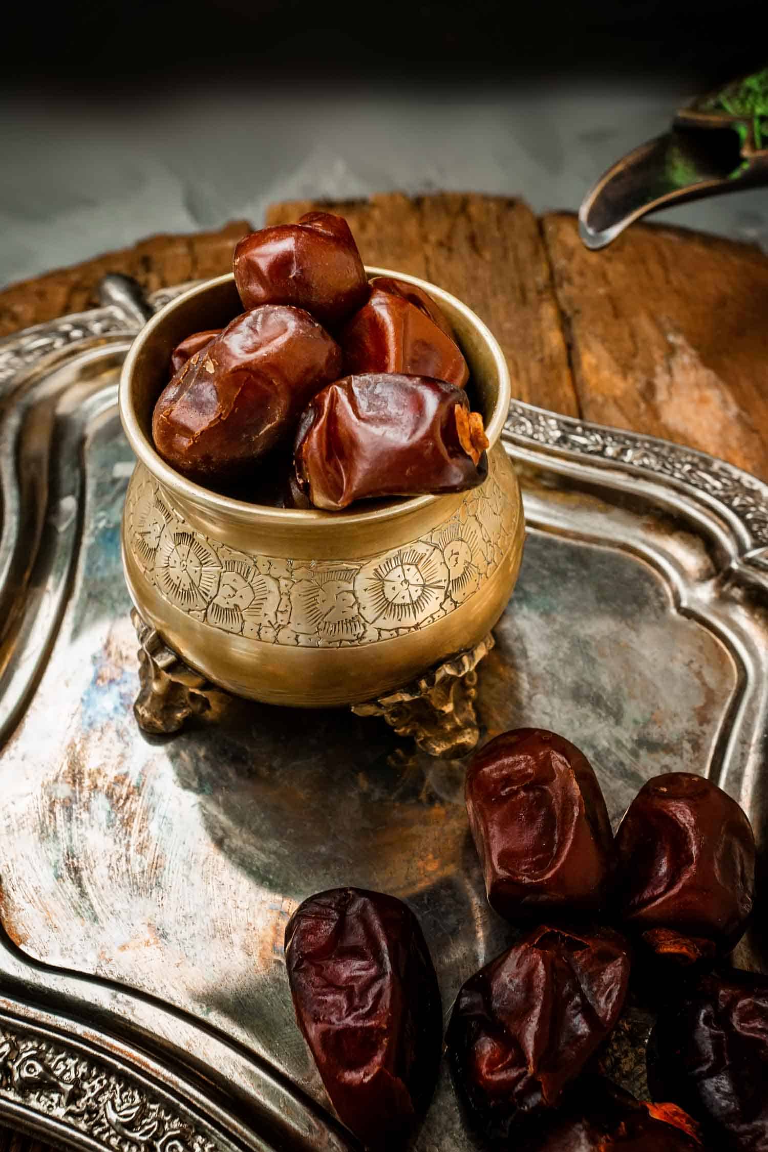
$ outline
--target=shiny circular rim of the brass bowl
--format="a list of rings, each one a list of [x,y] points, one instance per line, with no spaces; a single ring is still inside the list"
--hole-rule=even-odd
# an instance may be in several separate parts
[[[446,303],[449,308],[461,312],[464,319],[469,321],[469,324],[482,339],[493,357],[499,379],[496,403],[494,404],[491,420],[485,430],[486,437],[488,438],[488,452],[491,452],[501,435],[511,399],[509,367],[496,338],[471,308],[464,304],[464,302],[457,296],[446,291],[444,288],[440,288],[438,285],[433,285],[428,280],[421,280],[419,276],[413,276],[405,272],[394,272],[390,268],[379,268],[365,265],[365,272],[368,279],[372,276],[394,276],[397,280],[404,280],[406,283],[416,285],[418,288],[421,288],[424,291],[427,291],[431,296],[433,296],[438,303]],[[302,523],[313,525],[333,525],[339,524],[340,521],[343,520],[345,526],[355,523],[370,524],[379,520],[390,521],[398,518],[400,516],[406,516],[418,509],[434,503],[438,500],[444,500],[446,493],[438,495],[419,495],[412,497],[409,500],[398,500],[393,503],[379,505],[379,507],[371,508],[367,511],[360,511],[359,509],[327,511],[321,508],[273,508],[269,505],[256,505],[246,500],[235,500],[231,497],[221,495],[218,492],[211,491],[211,488],[204,487],[201,484],[196,484],[193,480],[189,480],[185,476],[182,476],[181,472],[177,472],[165,462],[152,441],[142,431],[138,418],[130,402],[130,381],[135,371],[136,361],[138,359],[143,346],[151,339],[154,331],[162,324],[169,312],[174,311],[174,309],[178,308],[188,300],[208,291],[213,286],[222,285],[227,281],[233,281],[234,279],[234,273],[227,272],[225,275],[212,276],[207,280],[203,280],[200,283],[196,283],[191,288],[188,288],[187,291],[180,293],[178,296],[174,296],[174,298],[168,301],[168,303],[165,304],[152,317],[152,319],[147,320],[134,340],[128,355],[126,356],[120,374],[117,404],[123,431],[137,461],[144,464],[147,471],[160,482],[164,488],[170,490],[170,492],[181,497],[183,500],[191,500],[198,507],[201,506],[208,510],[229,514],[230,516],[234,515],[238,520],[250,517],[254,523],[260,521],[261,523],[281,523],[292,524],[296,526]]]

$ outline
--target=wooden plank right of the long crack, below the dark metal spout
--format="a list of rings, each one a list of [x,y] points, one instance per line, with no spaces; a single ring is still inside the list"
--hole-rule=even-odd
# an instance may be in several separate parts
[[[543,237],[584,418],[768,479],[768,258],[659,226],[588,252],[562,214]]]

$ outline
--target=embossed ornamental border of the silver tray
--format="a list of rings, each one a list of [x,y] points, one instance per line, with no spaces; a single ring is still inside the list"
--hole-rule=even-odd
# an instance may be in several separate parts
[[[119,354],[144,320],[189,285],[145,298],[123,276],[106,276],[100,306],[0,340],[0,409],[35,371],[114,344]],[[699,506],[724,528],[733,569],[768,591],[768,485],[705,453],[601,427],[512,401],[508,450],[610,470],[616,485],[649,482]],[[0,579],[18,524],[15,476],[0,458],[5,522]],[[723,535],[723,533],[721,533]],[[0,597],[2,596],[0,583]],[[9,718],[9,721],[13,718]],[[55,1143],[102,1152],[353,1150],[296,1086],[253,1053],[150,996],[60,972],[25,956],[0,929],[0,1116]]]

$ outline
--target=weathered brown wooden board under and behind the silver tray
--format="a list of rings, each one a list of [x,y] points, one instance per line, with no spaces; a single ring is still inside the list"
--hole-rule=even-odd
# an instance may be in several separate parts
[[[317,202],[274,205],[268,222]],[[329,205],[367,264],[461,296],[507,355],[515,395],[724,456],[768,480],[768,257],[663,226],[587,252],[569,214],[508,197],[388,194]],[[147,290],[228,271],[249,228],[155,236],[0,291],[0,336],[96,303],[106,272]],[[46,1152],[0,1129],[0,1152]]]

